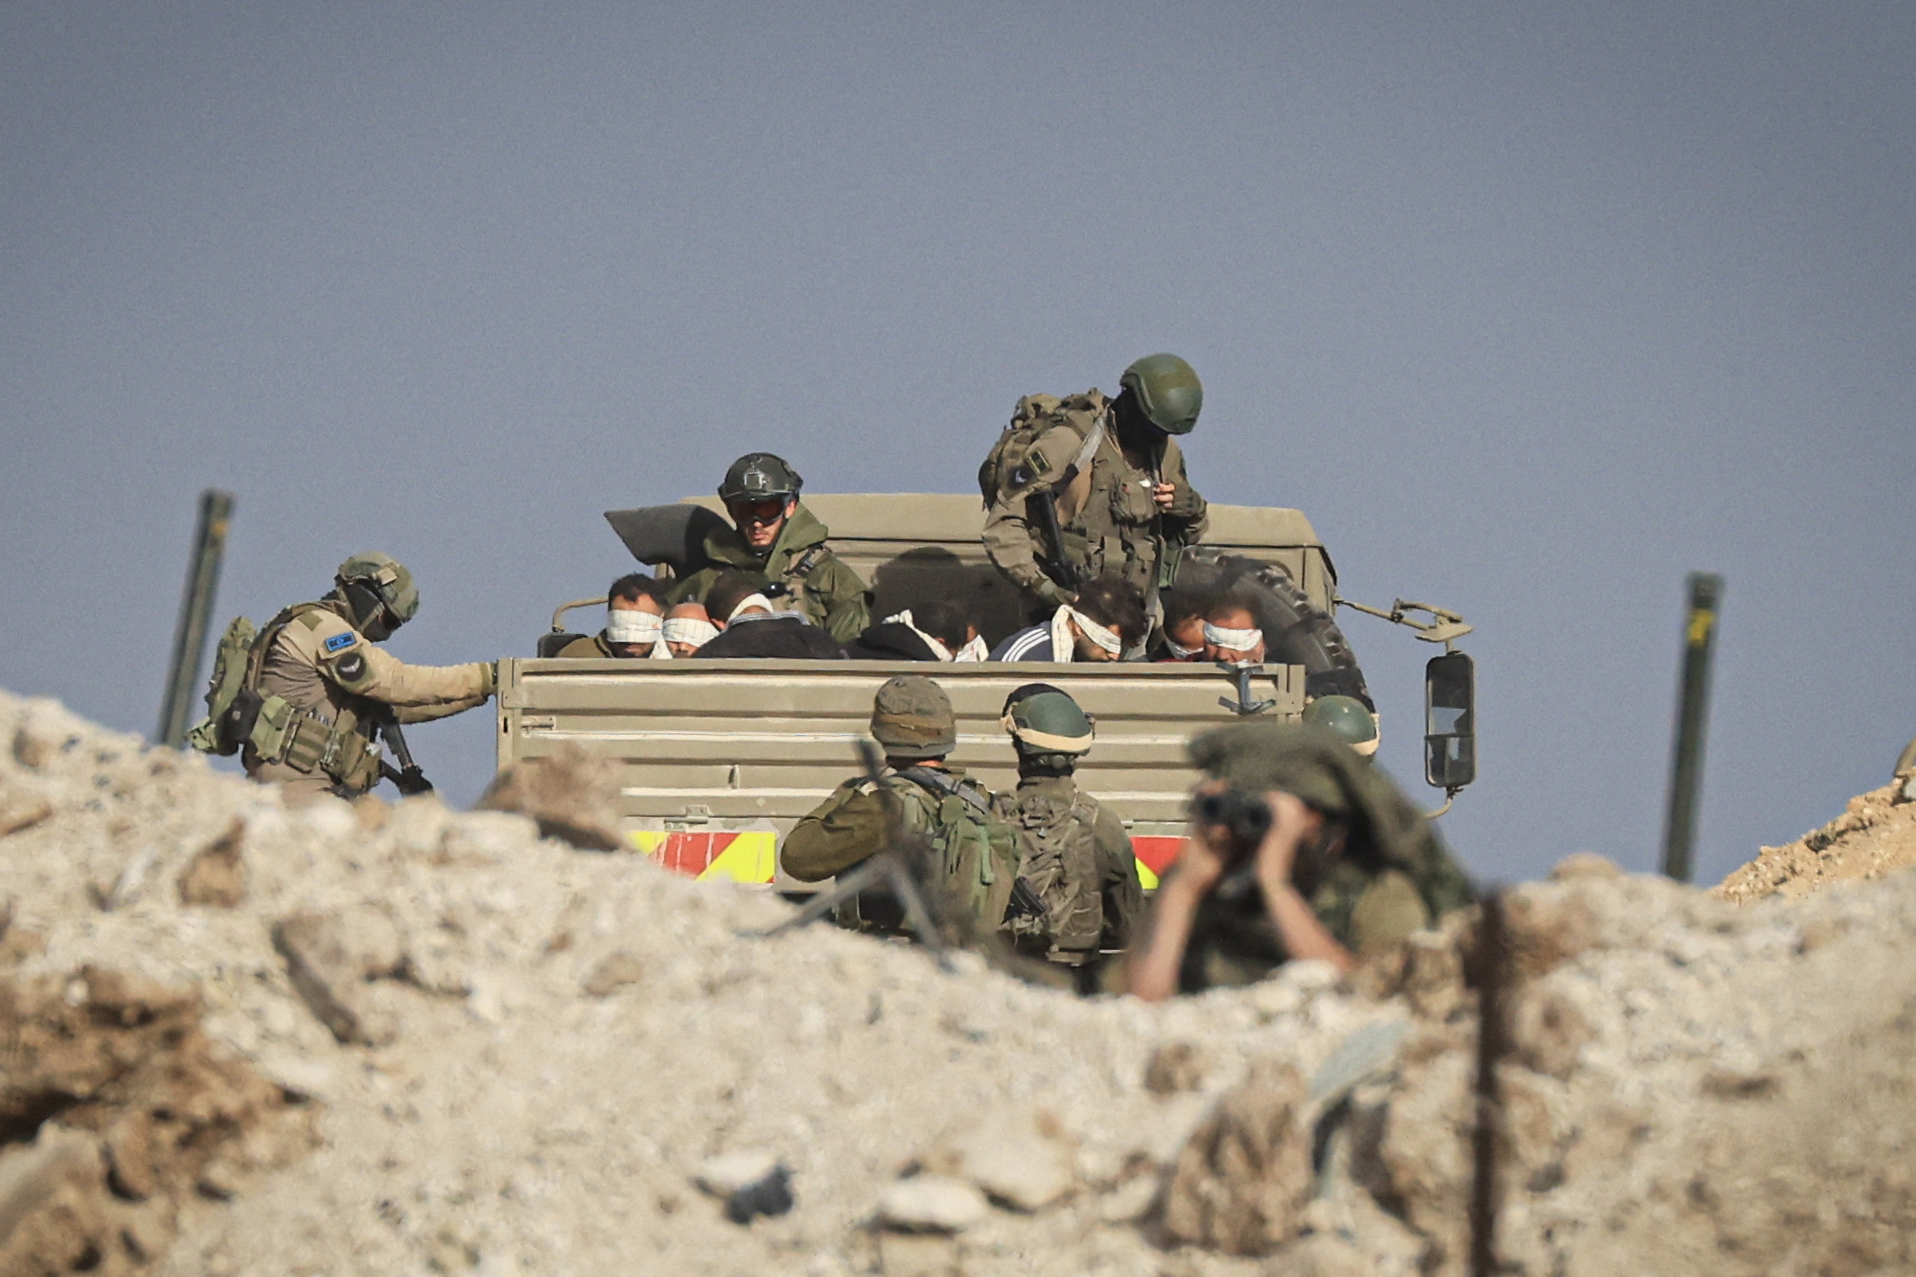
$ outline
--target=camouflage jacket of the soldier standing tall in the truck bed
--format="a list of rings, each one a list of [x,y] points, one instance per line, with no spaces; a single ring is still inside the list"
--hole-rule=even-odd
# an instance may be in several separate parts
[[[1098,435],[1077,474],[1060,483]],[[1159,510],[1152,487],[1176,485],[1171,510]],[[1056,493],[1063,546],[1046,545],[1029,500]],[[1038,560],[1073,564],[1083,579],[1115,573],[1150,600],[1159,589],[1167,550],[1196,545],[1209,525],[1207,502],[1184,472],[1184,451],[1165,437],[1155,468],[1136,468],[1117,439],[1109,401],[1102,393],[1077,395],[1052,412],[1025,453],[1023,464],[1004,476],[985,516],[985,552],[1019,589],[1046,602],[1063,591]]]

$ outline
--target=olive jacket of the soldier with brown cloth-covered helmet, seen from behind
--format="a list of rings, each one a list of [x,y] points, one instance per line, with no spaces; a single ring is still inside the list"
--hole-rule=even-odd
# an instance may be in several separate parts
[[[801,882],[820,882],[885,851],[893,828],[904,838],[925,838],[933,847],[937,884],[973,934],[1004,924],[1017,878],[1017,842],[992,807],[991,790],[966,778],[958,767],[943,769],[956,792],[941,792],[899,773],[879,780],[847,780],[832,798],[803,817],[778,849],[780,865]],[[897,824],[895,824],[897,823]],[[874,926],[874,918],[849,911],[841,926],[899,930],[902,917]]]

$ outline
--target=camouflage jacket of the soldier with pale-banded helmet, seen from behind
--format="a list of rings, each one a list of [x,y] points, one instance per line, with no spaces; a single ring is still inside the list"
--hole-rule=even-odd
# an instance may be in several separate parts
[[[1025,777],[998,809],[1017,830],[1017,876],[1044,915],[1010,922],[1019,949],[1081,964],[1130,943],[1144,886],[1125,823],[1071,777]]]

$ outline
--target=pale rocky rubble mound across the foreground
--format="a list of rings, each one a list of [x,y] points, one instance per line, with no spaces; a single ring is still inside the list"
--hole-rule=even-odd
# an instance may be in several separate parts
[[[1079,1001],[525,815],[287,811],[4,694],[0,744],[4,1271],[1464,1271],[1471,917]],[[1916,876],[1506,913],[1506,1271],[1916,1264]],[[105,1072],[21,1068],[67,1039]]]

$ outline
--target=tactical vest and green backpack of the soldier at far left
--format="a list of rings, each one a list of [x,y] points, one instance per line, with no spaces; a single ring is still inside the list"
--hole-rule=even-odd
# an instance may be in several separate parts
[[[247,750],[261,763],[320,771],[343,790],[364,792],[379,782],[379,746],[370,738],[374,725],[366,715],[353,708],[322,713],[259,688],[274,640],[308,612],[326,612],[326,606],[295,604],[261,631],[243,615],[232,619],[213,660],[207,717],[188,732],[188,740],[205,754]]]

